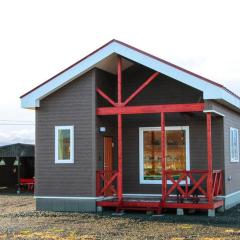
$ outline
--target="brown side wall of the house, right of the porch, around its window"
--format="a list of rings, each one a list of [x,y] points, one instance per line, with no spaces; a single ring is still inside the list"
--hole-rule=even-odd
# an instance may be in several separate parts
[[[240,162],[230,161],[230,127],[237,128],[240,133],[240,114],[214,101],[208,101],[209,109],[224,114],[224,158],[225,158],[225,190],[230,194],[240,190]],[[240,136],[239,136],[240,137]],[[229,181],[228,177],[232,177]]]

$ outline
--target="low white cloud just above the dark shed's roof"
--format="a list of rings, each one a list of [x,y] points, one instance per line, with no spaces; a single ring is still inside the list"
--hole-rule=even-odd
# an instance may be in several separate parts
[[[20,129],[0,132],[0,146],[14,143],[35,143],[34,129]]]

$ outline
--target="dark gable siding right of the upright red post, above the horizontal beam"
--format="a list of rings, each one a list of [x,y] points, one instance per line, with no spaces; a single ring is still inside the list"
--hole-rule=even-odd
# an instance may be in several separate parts
[[[135,66],[123,74],[123,99],[131,95],[154,72]],[[160,74],[129,105],[196,103],[202,101],[202,92]]]

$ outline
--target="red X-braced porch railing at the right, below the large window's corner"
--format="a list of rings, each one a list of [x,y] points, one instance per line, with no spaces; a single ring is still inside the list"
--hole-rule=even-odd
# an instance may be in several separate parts
[[[207,189],[207,170],[167,170],[165,173],[168,183],[166,200],[177,198],[177,201],[183,202],[183,200],[188,199],[197,203],[202,198],[208,199],[208,191],[210,189]],[[222,176],[222,170],[214,170],[212,173],[213,197],[222,194]]]

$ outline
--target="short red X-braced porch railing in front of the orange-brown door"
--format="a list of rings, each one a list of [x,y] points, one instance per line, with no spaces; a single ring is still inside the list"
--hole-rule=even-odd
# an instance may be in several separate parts
[[[118,172],[98,170],[96,175],[97,196],[113,196],[117,194]]]

